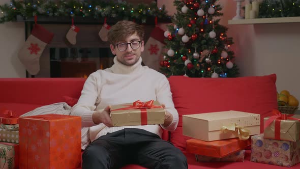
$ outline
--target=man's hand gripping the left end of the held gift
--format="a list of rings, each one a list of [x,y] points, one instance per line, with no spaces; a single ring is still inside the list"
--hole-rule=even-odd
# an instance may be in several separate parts
[[[113,126],[111,118],[110,118],[110,105],[105,107],[102,112],[95,111],[93,113],[92,118],[93,118],[93,122],[95,124],[103,123],[107,127],[112,127]]]

